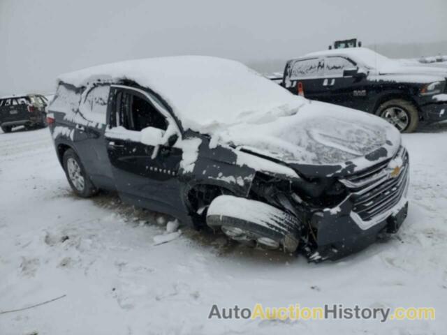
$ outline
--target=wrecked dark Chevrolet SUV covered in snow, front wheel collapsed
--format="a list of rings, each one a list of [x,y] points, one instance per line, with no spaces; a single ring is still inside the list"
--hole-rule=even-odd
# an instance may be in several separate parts
[[[294,96],[235,61],[62,75],[48,123],[76,194],[116,190],[245,244],[335,259],[406,216],[409,156],[393,126]]]

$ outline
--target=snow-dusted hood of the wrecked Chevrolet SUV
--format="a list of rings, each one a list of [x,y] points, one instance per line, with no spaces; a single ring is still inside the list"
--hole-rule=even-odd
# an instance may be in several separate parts
[[[351,174],[391,158],[400,147],[400,133],[383,119],[318,102],[270,121],[231,126],[217,136],[309,177]]]

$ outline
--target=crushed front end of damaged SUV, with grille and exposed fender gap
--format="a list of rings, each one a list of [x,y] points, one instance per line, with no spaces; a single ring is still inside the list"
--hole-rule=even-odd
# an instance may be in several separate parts
[[[397,232],[406,218],[409,155],[404,147],[385,161],[342,177],[288,183],[258,175],[251,198],[300,218],[300,251],[309,261],[337,260]]]

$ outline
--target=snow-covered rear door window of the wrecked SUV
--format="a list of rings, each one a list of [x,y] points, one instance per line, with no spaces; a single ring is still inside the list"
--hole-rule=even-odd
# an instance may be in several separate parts
[[[79,111],[89,121],[105,124],[107,117],[107,102],[110,93],[109,85],[94,87],[82,97]]]

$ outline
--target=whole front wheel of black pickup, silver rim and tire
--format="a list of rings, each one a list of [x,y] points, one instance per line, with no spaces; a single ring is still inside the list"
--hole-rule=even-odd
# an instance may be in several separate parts
[[[381,104],[376,115],[393,124],[401,133],[413,133],[418,128],[419,114],[416,106],[403,99],[393,99]]]

